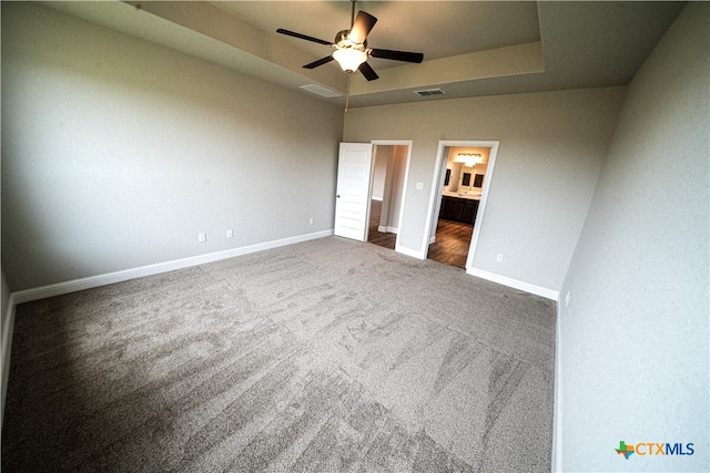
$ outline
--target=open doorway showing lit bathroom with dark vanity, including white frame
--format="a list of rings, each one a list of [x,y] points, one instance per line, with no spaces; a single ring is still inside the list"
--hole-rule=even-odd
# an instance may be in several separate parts
[[[498,142],[439,142],[427,258],[471,267],[497,151]]]

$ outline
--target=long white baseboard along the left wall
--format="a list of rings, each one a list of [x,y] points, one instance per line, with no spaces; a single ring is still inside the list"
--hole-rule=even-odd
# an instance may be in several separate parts
[[[85,278],[73,279],[65,282],[57,282],[48,286],[37,287],[32,289],[12,292],[14,304],[29,302],[32,300],[44,299],[63,294],[75,292],[79,290],[91,289],[94,287],[106,286],[114,282],[123,282],[130,279],[153,276],[161,273],[174,271],[175,269],[189,268],[192,266],[204,265],[207,263],[219,261],[221,259],[233,258],[235,256],[247,255],[250,253],[263,251],[264,249],[277,248],[280,246],[293,245],[310,239],[323,238],[332,236],[333,229],[316,232],[306,235],[298,235],[277,239],[273,241],[260,243],[256,245],[243,246],[240,248],[225,249],[223,251],[209,253],[206,255],[191,256],[189,258],[174,259],[172,261],[158,263],[155,265],[146,265],[138,268],[124,269],[121,271],[108,273],[103,275],[89,276]]]

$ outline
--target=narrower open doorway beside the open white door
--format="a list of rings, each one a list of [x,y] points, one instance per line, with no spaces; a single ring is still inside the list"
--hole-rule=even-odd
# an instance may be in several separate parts
[[[395,249],[402,220],[410,142],[373,142],[367,241]]]

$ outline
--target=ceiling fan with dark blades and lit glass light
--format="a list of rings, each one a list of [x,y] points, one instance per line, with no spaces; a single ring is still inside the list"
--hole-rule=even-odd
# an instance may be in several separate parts
[[[296,33],[295,31],[284,30],[280,28],[277,33],[286,34],[290,37],[298,38],[306,41],[313,41],[318,44],[328,45],[335,49],[331,55],[318,59],[310,64],[304,65],[304,69],[315,69],[320,65],[327,64],[335,60],[341,65],[343,71],[351,73],[356,69],[367,79],[374,81],[379,76],[367,63],[367,58],[382,58],[390,59],[394,61],[416,62],[419,63],[424,60],[424,54],[420,52],[407,52],[407,51],[393,51],[387,49],[367,48],[367,34],[373,29],[377,19],[365,11],[358,11],[357,18],[355,18],[355,0],[353,0],[353,9],[351,14],[351,29],[339,31],[335,35],[334,42],[320,40],[317,38],[308,37],[306,34]]]

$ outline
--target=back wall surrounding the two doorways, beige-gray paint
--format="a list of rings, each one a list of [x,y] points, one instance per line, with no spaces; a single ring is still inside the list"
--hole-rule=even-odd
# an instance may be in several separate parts
[[[399,229],[399,245],[413,251],[423,251],[428,236],[439,140],[500,141],[474,268],[559,291],[623,93],[607,88],[354,109],[344,140],[413,140]]]

